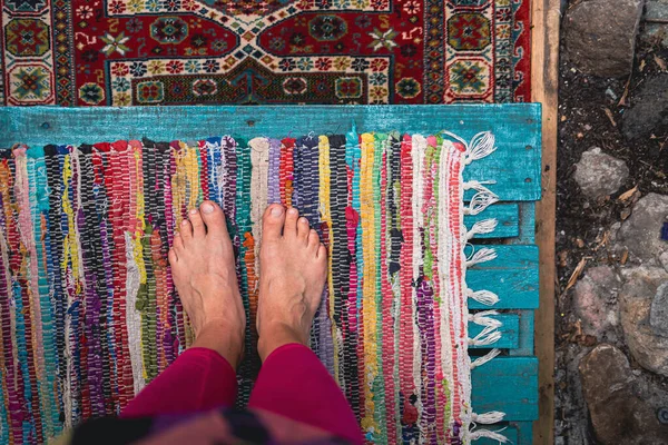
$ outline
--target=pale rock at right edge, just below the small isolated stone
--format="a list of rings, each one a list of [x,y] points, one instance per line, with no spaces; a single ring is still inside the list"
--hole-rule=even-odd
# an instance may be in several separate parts
[[[661,239],[661,227],[668,216],[668,196],[649,194],[633,206],[633,212],[617,233],[617,244],[629,249],[631,261],[657,263],[668,243]]]

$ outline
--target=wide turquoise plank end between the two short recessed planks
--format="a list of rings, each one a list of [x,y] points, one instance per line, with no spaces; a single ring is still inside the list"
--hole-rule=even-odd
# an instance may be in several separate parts
[[[478,246],[478,248],[481,246]],[[522,245],[485,246],[497,250],[497,259],[472,266],[466,285],[473,290],[491,290],[500,301],[494,309],[538,308],[538,247]],[[470,309],[490,309],[469,299]]]

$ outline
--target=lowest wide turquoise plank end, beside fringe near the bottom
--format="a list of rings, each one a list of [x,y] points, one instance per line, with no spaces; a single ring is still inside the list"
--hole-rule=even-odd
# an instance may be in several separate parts
[[[475,413],[500,411],[507,421],[538,418],[538,358],[498,357],[471,372]]]

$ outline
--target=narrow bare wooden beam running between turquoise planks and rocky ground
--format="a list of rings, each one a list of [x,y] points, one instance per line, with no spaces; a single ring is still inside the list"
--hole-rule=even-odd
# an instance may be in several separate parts
[[[560,0],[533,0],[531,9],[532,101],[542,103],[542,200],[536,206],[536,240],[540,248],[540,307],[536,312],[539,359],[539,418],[533,444],[554,441],[554,220],[557,197],[557,126]]]

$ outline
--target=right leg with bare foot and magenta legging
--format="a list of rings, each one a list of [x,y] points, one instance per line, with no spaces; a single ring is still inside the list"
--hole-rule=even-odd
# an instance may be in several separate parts
[[[326,248],[296,209],[279,205],[265,211],[263,237],[257,314],[263,366],[248,406],[361,444],[343,393],[305,346],[325,285]]]

